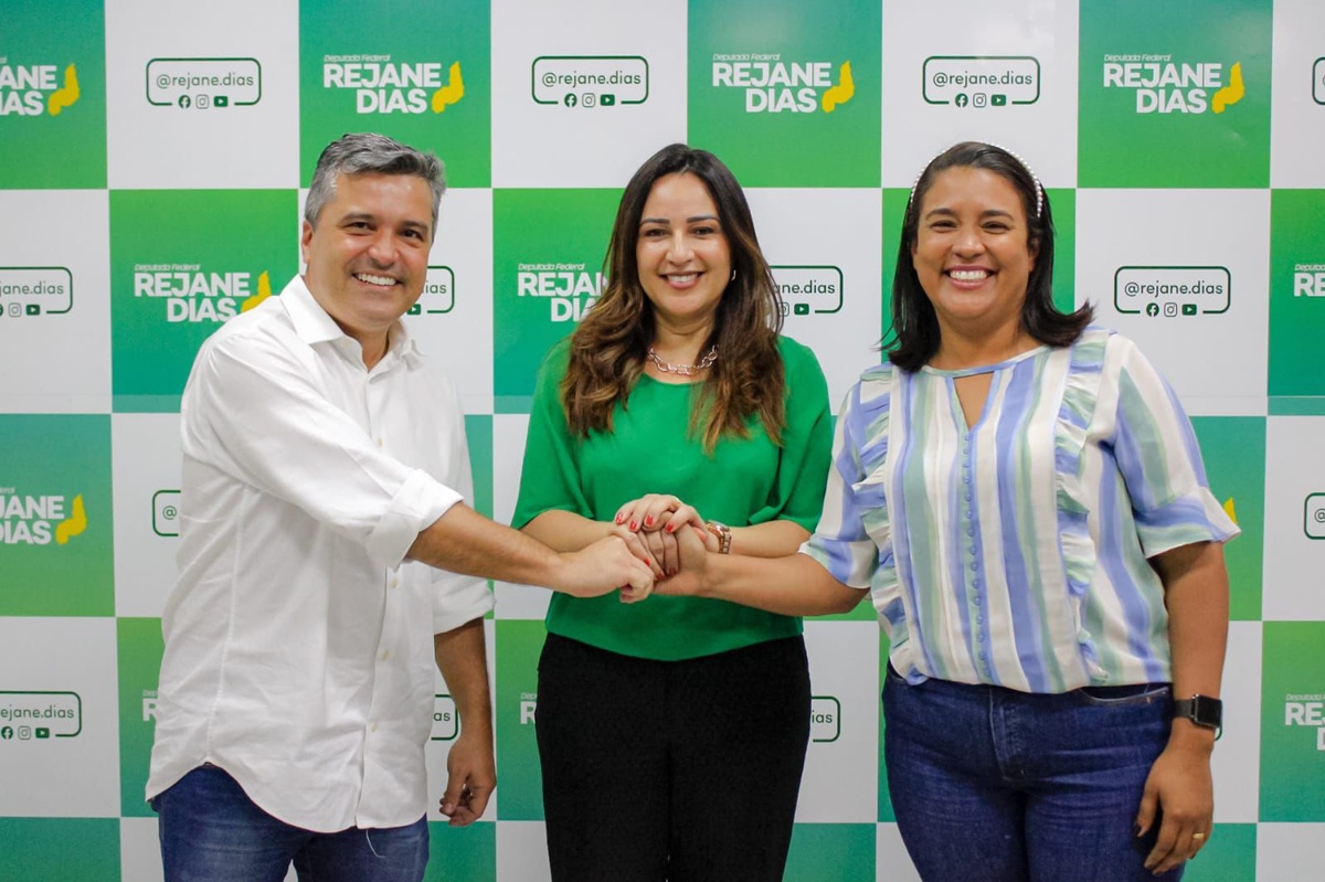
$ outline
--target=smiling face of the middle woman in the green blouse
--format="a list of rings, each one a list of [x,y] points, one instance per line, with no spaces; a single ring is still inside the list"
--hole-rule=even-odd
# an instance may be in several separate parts
[[[702,180],[678,172],[653,183],[640,216],[635,260],[640,286],[660,322],[677,328],[713,322],[731,279],[731,250]]]

